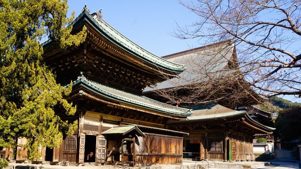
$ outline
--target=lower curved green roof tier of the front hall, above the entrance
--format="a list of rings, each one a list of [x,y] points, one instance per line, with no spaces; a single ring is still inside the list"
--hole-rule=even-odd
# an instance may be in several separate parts
[[[80,78],[79,80],[73,82],[73,88],[77,88],[79,85],[93,91],[98,95],[101,95],[101,97],[114,100],[120,104],[126,103],[182,118],[186,118],[187,116],[191,115],[191,111],[189,109],[170,106],[145,96],[132,94],[88,79]]]

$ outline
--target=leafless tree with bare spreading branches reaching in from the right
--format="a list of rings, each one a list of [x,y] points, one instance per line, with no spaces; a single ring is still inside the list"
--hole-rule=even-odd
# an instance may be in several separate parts
[[[188,70],[210,79],[206,85],[205,82],[202,83],[202,92],[210,88],[210,83],[216,86],[228,84],[228,88],[231,89],[228,91],[232,91],[223,93],[221,88],[210,88],[211,92],[203,93],[207,94],[206,97],[213,94],[213,91],[219,92],[220,96],[216,97],[215,94],[214,98],[199,100],[200,103],[229,98],[231,95],[250,90],[250,87],[265,97],[281,94],[301,97],[301,0],[191,0],[180,3],[197,14],[199,19],[190,26],[178,25],[174,36],[182,39],[199,38],[204,44],[232,39],[228,46],[235,44],[236,48],[237,60],[224,60],[237,65],[228,67],[231,73],[228,72],[227,76],[225,72],[208,74],[210,65],[214,66],[212,61],[193,63],[194,68]],[[189,58],[187,63],[189,67]],[[229,85],[231,83],[235,85]],[[201,83],[191,81],[186,84]],[[240,87],[237,84],[241,84]],[[232,88],[233,86],[236,88]],[[176,101],[180,98],[174,99],[173,101]]]

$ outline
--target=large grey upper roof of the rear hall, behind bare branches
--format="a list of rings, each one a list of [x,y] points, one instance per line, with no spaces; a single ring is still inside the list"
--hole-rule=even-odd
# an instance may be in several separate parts
[[[230,71],[225,69],[234,53],[234,45],[218,43],[217,45],[209,45],[203,48],[195,48],[178,54],[164,56],[164,58],[171,62],[185,64],[186,70],[179,75],[180,78],[173,78],[159,83],[155,89],[199,83],[209,80],[208,77],[211,79],[218,78],[235,72],[236,70]],[[154,89],[148,87],[144,92],[152,90]]]

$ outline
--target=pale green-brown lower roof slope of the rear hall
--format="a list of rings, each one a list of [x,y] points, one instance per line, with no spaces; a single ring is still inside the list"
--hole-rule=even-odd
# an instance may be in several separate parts
[[[187,117],[189,120],[204,120],[204,119],[216,119],[225,118],[229,116],[244,114],[245,112],[240,112],[227,107],[221,106],[216,103],[209,104],[199,104],[192,108],[193,114]]]

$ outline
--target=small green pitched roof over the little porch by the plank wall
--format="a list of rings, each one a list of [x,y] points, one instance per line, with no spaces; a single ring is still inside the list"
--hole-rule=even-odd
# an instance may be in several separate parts
[[[101,134],[104,136],[122,138],[123,136],[131,132],[134,132],[138,136],[146,137],[145,134],[137,127],[137,125],[115,126],[107,131],[102,132]]]

